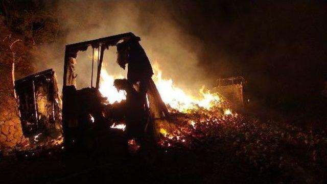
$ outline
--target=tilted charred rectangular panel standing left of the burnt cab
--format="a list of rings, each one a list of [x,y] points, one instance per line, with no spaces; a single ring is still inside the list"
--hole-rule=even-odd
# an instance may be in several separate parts
[[[56,139],[61,135],[61,102],[55,71],[45,70],[15,81],[15,92],[25,137]],[[36,141],[38,142],[38,141]]]

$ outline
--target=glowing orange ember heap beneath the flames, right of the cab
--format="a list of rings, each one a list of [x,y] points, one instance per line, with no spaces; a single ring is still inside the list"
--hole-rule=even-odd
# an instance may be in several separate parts
[[[238,114],[232,114],[229,109],[214,106],[209,109],[197,107],[181,113],[170,109],[174,129],[160,128],[161,139],[158,144],[162,147],[187,147],[192,149],[213,136],[224,124],[242,121]],[[228,105],[226,105],[228,107]],[[168,105],[169,107],[169,105]]]

